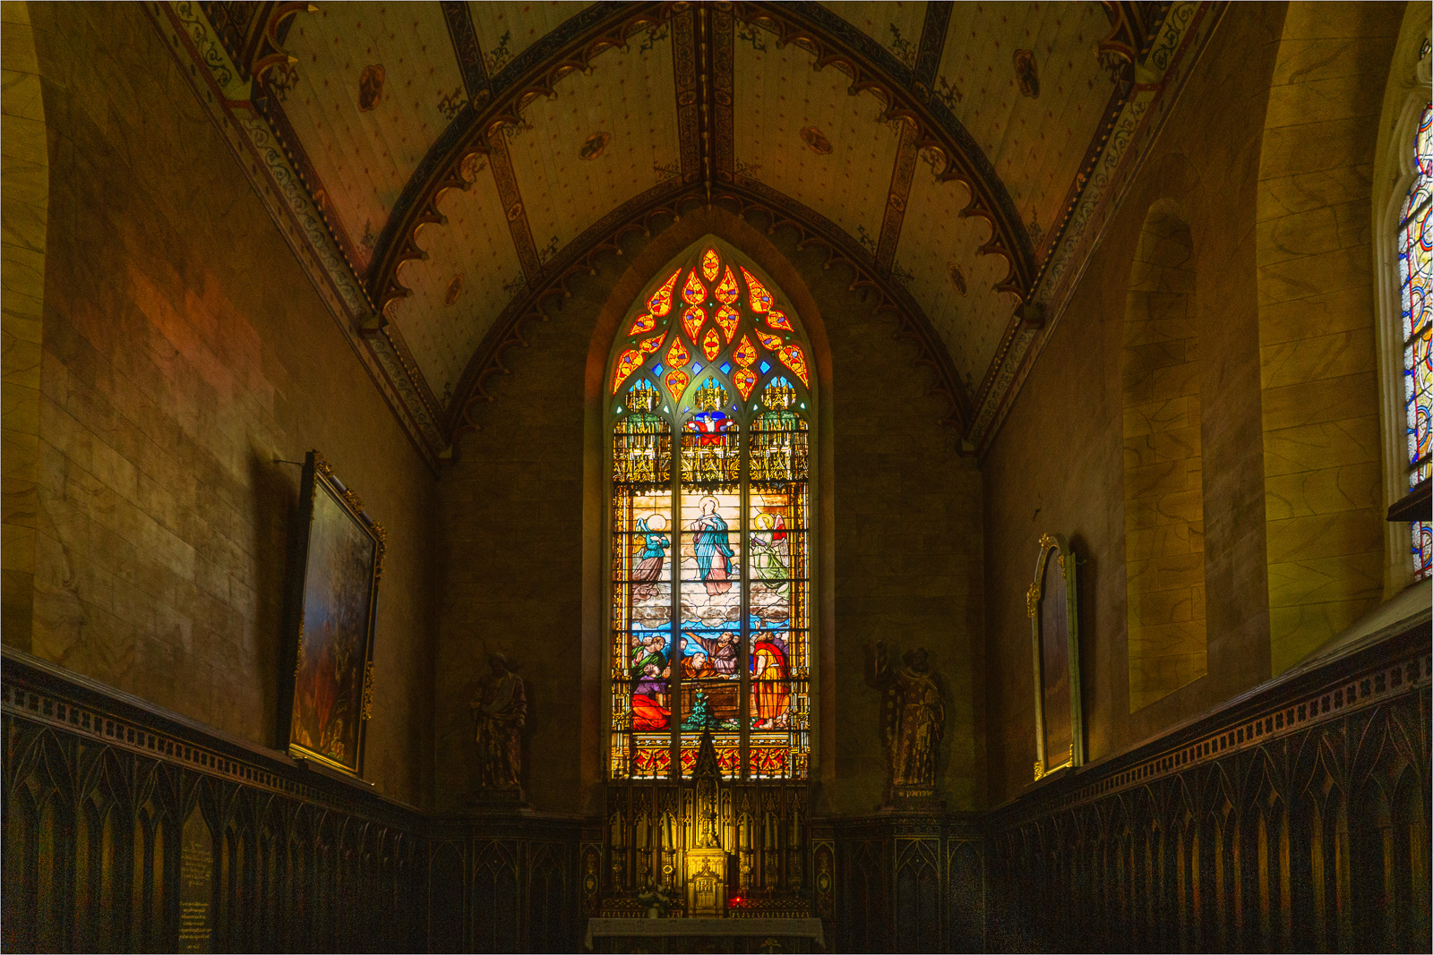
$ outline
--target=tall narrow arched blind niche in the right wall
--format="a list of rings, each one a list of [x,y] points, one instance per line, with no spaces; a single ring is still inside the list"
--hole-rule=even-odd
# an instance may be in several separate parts
[[[1194,283],[1189,226],[1159,200],[1135,251],[1119,361],[1131,713],[1208,666]]]

